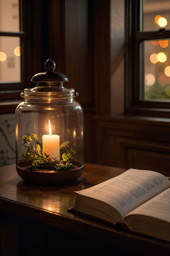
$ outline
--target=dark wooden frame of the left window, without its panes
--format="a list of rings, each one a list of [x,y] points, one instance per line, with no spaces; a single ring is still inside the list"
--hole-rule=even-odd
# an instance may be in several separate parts
[[[21,81],[0,82],[0,113],[12,113],[16,106],[22,102],[20,93],[24,88],[30,88],[30,49],[29,49],[29,23],[28,13],[30,1],[19,0],[19,32],[0,31],[0,36],[20,37],[21,47]]]

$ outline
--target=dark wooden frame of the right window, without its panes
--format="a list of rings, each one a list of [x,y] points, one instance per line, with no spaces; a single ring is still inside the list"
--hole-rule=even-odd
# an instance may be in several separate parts
[[[170,100],[142,100],[141,89],[144,84],[143,49],[145,40],[163,40],[170,38],[170,30],[142,31],[143,0],[126,0],[125,5],[125,113],[146,116],[169,117]]]

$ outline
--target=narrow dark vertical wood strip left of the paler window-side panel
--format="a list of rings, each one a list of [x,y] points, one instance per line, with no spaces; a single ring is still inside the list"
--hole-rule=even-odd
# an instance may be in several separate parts
[[[95,106],[97,115],[110,115],[110,1],[94,0]]]

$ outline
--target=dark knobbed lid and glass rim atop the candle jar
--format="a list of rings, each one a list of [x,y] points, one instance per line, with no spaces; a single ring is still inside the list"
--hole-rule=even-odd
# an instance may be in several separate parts
[[[75,93],[74,89],[63,87],[63,83],[69,80],[64,74],[54,72],[56,64],[53,60],[48,59],[44,67],[46,72],[38,73],[31,79],[37,86],[32,89],[25,89],[24,93],[21,93],[22,97],[34,99],[46,99],[48,97],[50,99],[58,99],[76,97],[79,95]]]

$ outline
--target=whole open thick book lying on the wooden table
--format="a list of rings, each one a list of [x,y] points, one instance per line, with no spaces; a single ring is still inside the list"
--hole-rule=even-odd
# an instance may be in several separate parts
[[[129,169],[78,191],[73,210],[170,241],[170,181],[157,172]]]

